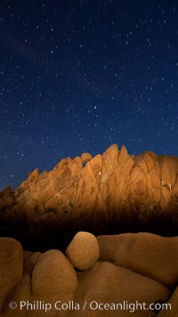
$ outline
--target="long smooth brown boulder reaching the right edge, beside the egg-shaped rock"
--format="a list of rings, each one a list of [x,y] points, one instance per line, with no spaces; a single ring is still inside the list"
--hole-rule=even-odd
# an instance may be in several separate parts
[[[178,237],[151,233],[99,236],[102,261],[110,261],[158,280],[173,289],[178,283]]]

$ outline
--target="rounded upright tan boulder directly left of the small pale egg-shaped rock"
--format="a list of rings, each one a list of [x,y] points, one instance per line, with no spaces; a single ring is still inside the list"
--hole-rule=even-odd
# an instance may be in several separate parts
[[[48,298],[73,294],[78,286],[73,266],[59,250],[49,250],[38,257],[31,283],[34,295]]]

